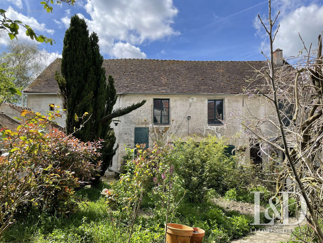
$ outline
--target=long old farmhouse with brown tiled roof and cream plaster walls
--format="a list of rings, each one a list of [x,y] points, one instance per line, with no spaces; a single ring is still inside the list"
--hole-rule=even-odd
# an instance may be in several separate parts
[[[281,65],[282,50],[277,49],[274,56],[276,65]],[[23,99],[27,99],[31,110],[45,113],[52,109],[49,104],[61,103],[54,79],[55,71],[60,71],[60,61],[51,63],[24,90]],[[243,130],[242,125],[236,121],[225,129],[220,120],[226,120],[233,111],[248,109],[257,116],[265,113],[266,108],[258,99],[249,99],[242,93],[248,86],[246,80],[254,75],[254,68],[267,66],[266,61],[108,59],[103,66],[106,75],[114,77],[118,96],[114,109],[147,100],[144,106],[120,117],[117,126],[111,124],[119,144],[111,167],[114,171],[121,169],[124,145],[153,145],[149,136],[153,128],[158,130],[159,139],[165,141],[172,134],[183,140],[192,136],[203,139],[208,134],[224,136],[230,151],[236,153],[238,145],[249,143],[245,139],[233,139],[234,134]],[[65,117],[57,122],[64,127]],[[256,148],[245,151],[245,160],[250,156],[255,162],[265,163]]]

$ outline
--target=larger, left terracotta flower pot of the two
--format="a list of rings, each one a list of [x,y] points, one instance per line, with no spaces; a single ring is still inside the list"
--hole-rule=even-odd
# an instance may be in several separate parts
[[[190,239],[193,234],[192,227],[168,223],[167,227],[165,225],[165,230],[166,229],[166,243],[190,243]]]

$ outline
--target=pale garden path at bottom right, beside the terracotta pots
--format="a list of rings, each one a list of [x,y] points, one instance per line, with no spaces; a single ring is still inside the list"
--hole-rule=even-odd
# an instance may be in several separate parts
[[[297,219],[294,217],[289,217],[290,223],[296,223]],[[300,225],[306,224],[306,219],[300,223]],[[287,241],[291,237],[292,231],[298,225],[278,225],[278,222],[275,225],[267,226],[263,229],[257,229],[255,234],[248,235],[243,238],[232,241],[232,243],[276,243],[280,241]]]

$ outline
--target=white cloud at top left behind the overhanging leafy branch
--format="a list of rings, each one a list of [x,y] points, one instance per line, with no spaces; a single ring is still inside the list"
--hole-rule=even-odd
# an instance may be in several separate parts
[[[44,23],[39,23],[36,18],[28,17],[26,15],[23,15],[22,13],[18,13],[11,6],[6,9],[5,15],[10,19],[20,20],[23,22],[23,24],[29,25],[37,34],[43,34],[46,36],[46,34],[53,35],[55,32],[53,29],[47,29],[46,25]],[[26,36],[26,31],[23,27],[20,27],[17,38],[19,41],[28,41],[35,43],[35,40],[31,40],[30,37]],[[10,41],[9,36],[5,35],[5,37],[2,38],[1,43],[6,44],[8,41]]]

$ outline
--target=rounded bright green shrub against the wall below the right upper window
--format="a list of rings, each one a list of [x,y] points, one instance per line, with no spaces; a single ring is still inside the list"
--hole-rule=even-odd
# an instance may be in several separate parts
[[[209,135],[201,142],[189,138],[174,143],[176,172],[184,180],[190,202],[205,202],[208,189],[223,194],[235,186],[235,159],[227,156],[222,139]]]

